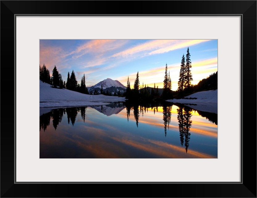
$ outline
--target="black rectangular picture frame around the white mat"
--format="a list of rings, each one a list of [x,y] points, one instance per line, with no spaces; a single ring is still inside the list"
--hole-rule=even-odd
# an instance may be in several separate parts
[[[126,6],[124,6],[124,3]],[[1,1],[1,197],[256,197],[256,0]],[[119,9],[117,9],[118,7]],[[241,182],[16,183],[16,15],[240,15]],[[233,57],[228,57],[233,58]],[[250,105],[251,104],[251,105]],[[233,115],[230,115],[233,116]],[[233,123],[228,123],[233,124]],[[25,131],[24,131],[25,132]],[[229,141],[228,141],[229,142]],[[228,146],[233,147],[233,145]],[[232,149],[233,152],[233,149]],[[250,155],[250,157],[248,157]],[[93,189],[99,189],[95,192]],[[118,192],[124,192],[119,194]],[[140,194],[138,194],[138,192]]]

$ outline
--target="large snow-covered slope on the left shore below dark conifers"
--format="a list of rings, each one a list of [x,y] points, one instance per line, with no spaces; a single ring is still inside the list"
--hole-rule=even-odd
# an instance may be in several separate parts
[[[125,101],[124,97],[87,95],[68,89],[52,88],[40,80],[40,107],[106,105],[106,102]]]

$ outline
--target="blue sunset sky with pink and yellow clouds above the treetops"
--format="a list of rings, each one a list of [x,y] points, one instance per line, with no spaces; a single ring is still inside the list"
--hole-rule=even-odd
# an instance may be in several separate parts
[[[177,90],[183,54],[189,48],[192,62],[191,84],[197,84],[218,70],[218,40],[40,40],[40,66],[57,67],[66,82],[74,71],[78,83],[85,74],[86,86],[111,78],[131,88],[138,72],[144,83],[163,88],[165,66],[171,76],[171,89]]]

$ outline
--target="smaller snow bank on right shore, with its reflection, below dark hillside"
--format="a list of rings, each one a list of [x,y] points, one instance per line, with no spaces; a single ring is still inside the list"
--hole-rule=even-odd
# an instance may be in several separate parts
[[[185,98],[197,99],[172,99],[168,102],[181,103],[193,109],[206,111],[210,113],[218,113],[218,90],[209,90],[203,92],[193,93]]]

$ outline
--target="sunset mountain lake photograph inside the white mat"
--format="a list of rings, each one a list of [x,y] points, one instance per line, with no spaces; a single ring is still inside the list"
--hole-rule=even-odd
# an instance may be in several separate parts
[[[217,39],[40,40],[40,159],[217,159],[217,55]]]

